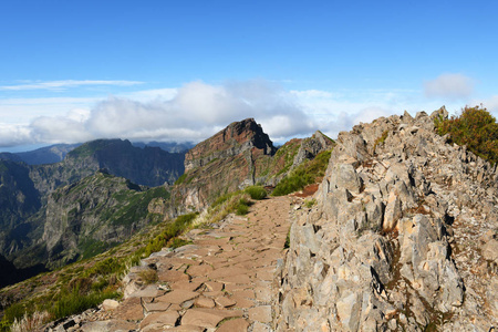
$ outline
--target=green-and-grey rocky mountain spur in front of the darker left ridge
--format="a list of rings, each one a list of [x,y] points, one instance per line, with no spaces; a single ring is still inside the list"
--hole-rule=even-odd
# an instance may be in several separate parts
[[[147,206],[167,198],[165,188],[142,190],[129,180],[97,172],[49,196],[39,245],[49,268],[89,258],[121,243],[148,224]]]

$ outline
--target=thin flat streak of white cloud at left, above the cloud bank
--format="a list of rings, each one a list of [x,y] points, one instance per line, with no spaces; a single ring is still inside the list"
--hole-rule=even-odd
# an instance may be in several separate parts
[[[18,85],[3,85],[0,90],[9,91],[22,91],[22,90],[64,90],[68,87],[77,87],[84,85],[116,85],[116,86],[131,86],[143,84],[138,81],[91,81],[91,80],[64,80],[64,81],[49,81],[49,82],[32,82]]]

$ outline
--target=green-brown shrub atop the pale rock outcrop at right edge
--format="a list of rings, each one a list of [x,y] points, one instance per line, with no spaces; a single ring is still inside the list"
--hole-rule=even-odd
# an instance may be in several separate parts
[[[459,116],[436,118],[435,126],[439,135],[449,134],[450,142],[466,145],[492,165],[498,162],[498,124],[485,107],[466,106]]]

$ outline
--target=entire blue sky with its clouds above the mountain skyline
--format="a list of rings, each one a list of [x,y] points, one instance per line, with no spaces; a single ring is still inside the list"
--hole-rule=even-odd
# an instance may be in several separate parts
[[[498,115],[496,1],[1,1],[0,151]]]

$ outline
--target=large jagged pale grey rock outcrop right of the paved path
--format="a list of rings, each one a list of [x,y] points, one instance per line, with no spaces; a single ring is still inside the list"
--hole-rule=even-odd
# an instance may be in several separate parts
[[[435,116],[339,135],[318,204],[291,227],[277,331],[496,326],[496,166],[446,144]]]

